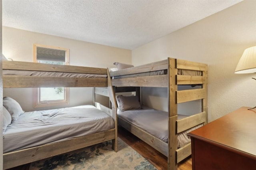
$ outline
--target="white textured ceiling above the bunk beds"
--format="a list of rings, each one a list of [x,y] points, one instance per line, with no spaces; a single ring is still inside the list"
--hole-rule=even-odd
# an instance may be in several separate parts
[[[3,0],[2,24],[135,49],[242,0]]]

